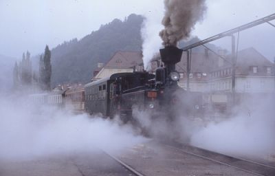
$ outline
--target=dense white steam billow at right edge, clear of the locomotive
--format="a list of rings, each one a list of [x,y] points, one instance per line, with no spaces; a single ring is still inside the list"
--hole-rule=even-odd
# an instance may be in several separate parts
[[[220,153],[261,157],[275,155],[274,100],[256,98],[241,104],[234,118],[208,122],[191,135],[191,144]],[[274,158],[275,159],[275,158]]]

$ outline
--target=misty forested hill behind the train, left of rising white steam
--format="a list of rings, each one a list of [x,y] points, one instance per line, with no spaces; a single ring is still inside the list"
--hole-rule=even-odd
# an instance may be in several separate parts
[[[80,41],[73,39],[52,49],[52,86],[87,83],[98,62],[106,63],[119,50],[140,51],[142,21],[142,16],[131,14],[124,21],[102,25]]]

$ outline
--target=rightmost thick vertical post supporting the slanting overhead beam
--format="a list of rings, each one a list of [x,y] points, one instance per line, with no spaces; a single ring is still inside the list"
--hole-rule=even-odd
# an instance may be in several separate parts
[[[232,105],[236,103],[236,49],[235,36],[232,35]]]

